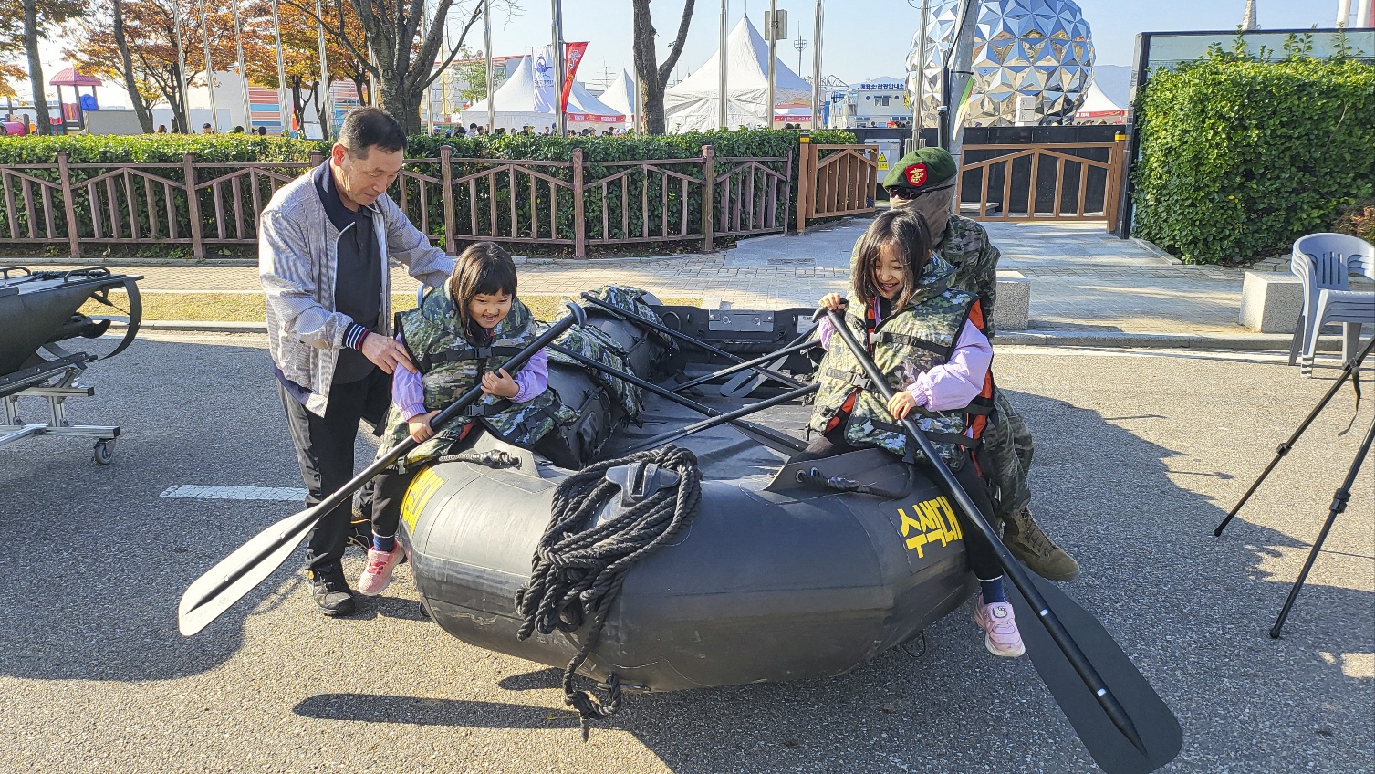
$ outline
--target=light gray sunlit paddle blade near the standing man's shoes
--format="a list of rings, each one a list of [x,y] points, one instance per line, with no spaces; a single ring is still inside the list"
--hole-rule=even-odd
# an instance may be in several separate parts
[[[191,637],[210,626],[210,621],[267,580],[296,551],[320,516],[320,506],[315,506],[278,521],[195,579],[182,594],[176,610],[182,635]]]

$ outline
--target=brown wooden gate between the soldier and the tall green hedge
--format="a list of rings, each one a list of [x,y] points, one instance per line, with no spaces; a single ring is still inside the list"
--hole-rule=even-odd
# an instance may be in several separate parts
[[[1122,144],[964,146],[956,201],[975,220],[1107,220],[1114,231]]]

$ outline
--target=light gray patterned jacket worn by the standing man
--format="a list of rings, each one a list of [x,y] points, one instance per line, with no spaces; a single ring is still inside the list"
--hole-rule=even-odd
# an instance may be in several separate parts
[[[314,169],[283,186],[258,220],[258,278],[267,294],[267,337],[272,363],[307,392],[305,408],[324,415],[344,335],[353,322],[334,311],[340,231],[315,190]],[[382,253],[382,298],[377,333],[392,335],[389,260],[415,279],[439,287],[454,260],[411,224],[388,195],[373,205]]]

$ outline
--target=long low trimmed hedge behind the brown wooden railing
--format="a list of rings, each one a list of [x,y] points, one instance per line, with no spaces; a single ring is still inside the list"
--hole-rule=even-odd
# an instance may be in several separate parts
[[[802,132],[795,131],[734,131],[734,132],[700,132],[700,133],[685,133],[685,135],[664,135],[664,136],[620,136],[620,137],[546,137],[540,135],[503,135],[503,136],[484,136],[484,137],[436,137],[436,136],[415,136],[410,139],[410,147],[407,150],[407,157],[412,159],[437,159],[440,155],[440,148],[448,146],[452,151],[454,161],[451,164],[451,177],[454,180],[461,180],[466,176],[478,175],[484,170],[492,168],[491,162],[500,162],[503,159],[524,159],[524,161],[558,161],[568,162],[572,159],[575,148],[582,148],[584,161],[584,186],[593,184],[595,180],[601,180],[613,176],[619,172],[630,170],[626,175],[624,187],[622,187],[622,180],[616,180],[612,187],[606,190],[604,199],[602,190],[600,187],[591,186],[586,190],[583,197],[584,203],[584,221],[587,224],[588,241],[601,239],[602,228],[605,223],[606,234],[605,239],[622,241],[634,239],[644,235],[644,230],[648,224],[650,234],[657,230],[663,221],[667,219],[671,228],[675,228],[685,216],[690,228],[696,228],[701,221],[701,194],[698,186],[688,187],[686,199],[682,197],[681,183],[668,176],[667,179],[656,172],[638,169],[632,165],[606,165],[606,162],[617,161],[650,161],[650,159],[689,159],[696,158],[701,154],[703,146],[712,146],[716,158],[759,158],[759,157],[786,157],[792,154],[792,197],[788,202],[780,201],[777,206],[782,206],[784,217],[791,219],[792,213],[796,210],[796,179],[798,179],[798,147],[799,137]],[[828,144],[846,144],[854,143],[854,135],[848,132],[815,132],[811,135],[813,140],[817,143]],[[223,175],[230,175],[235,170],[236,164],[242,162],[307,162],[309,161],[311,151],[327,151],[329,143],[312,142],[312,140],[292,140],[283,137],[252,137],[242,135],[146,135],[136,137],[120,137],[120,136],[66,136],[66,137],[10,137],[0,139],[0,165],[7,164],[52,164],[56,154],[66,151],[69,155],[69,164],[176,164],[180,165],[184,154],[194,153],[197,155],[198,164],[224,164],[223,168],[199,168],[198,180],[204,184],[206,180],[217,179]],[[483,159],[483,161],[463,161],[463,159]],[[786,162],[764,162],[766,166],[774,169],[778,173],[786,170]],[[682,166],[674,166],[672,164],[660,165],[670,169],[671,172],[678,172],[690,177],[700,177],[701,169],[700,164],[689,165],[686,161]],[[425,175],[433,179],[440,179],[441,169],[437,161],[430,162],[412,162],[407,165],[407,170]],[[542,175],[547,175],[556,180],[565,183],[572,181],[571,168],[538,168]],[[725,170],[722,164],[716,165],[716,175],[722,175]],[[82,180],[95,177],[100,175],[102,169],[77,169],[73,170],[73,181],[80,183]],[[183,183],[184,173],[179,168],[150,168],[150,173],[155,173],[158,177],[164,177],[169,181]],[[297,175],[296,170],[289,172],[292,176]],[[37,177],[50,179],[56,181],[58,175],[55,169],[40,170]],[[755,194],[766,195],[767,183],[766,176],[758,175],[755,177]],[[463,241],[469,238],[473,232],[470,227],[470,217],[476,213],[478,224],[478,232],[495,232],[500,236],[513,238],[527,238],[527,239],[549,239],[551,235],[557,235],[562,239],[571,239],[573,235],[573,197],[569,195],[566,188],[561,188],[557,201],[551,201],[549,184],[546,181],[535,180],[534,192],[531,191],[532,179],[525,173],[516,175],[514,184],[514,208],[516,208],[516,228],[512,228],[510,206],[513,198],[513,187],[509,177],[502,176],[495,180],[495,184],[488,184],[488,179],[480,179],[473,187],[455,186],[452,191],[454,209],[455,209],[455,239]],[[670,184],[666,184],[668,181]],[[260,181],[258,197],[261,201],[271,194],[265,188],[265,181]],[[736,195],[744,195],[745,181],[740,180],[736,184]],[[157,186],[154,186],[157,188]],[[430,186],[425,203],[422,206],[421,197],[418,195],[418,186],[415,180],[406,181],[406,192],[399,190],[399,186],[392,187],[392,197],[403,203],[407,214],[411,220],[421,225],[429,235],[436,238],[440,243],[444,242],[444,210],[443,210],[443,197],[437,191],[437,187]],[[780,190],[781,195],[782,191]],[[107,198],[100,191],[95,195]],[[238,195],[241,198],[239,205],[245,212],[252,210],[252,191],[248,186],[241,186]],[[219,201],[216,199],[219,197]],[[208,241],[213,241],[213,231],[217,230],[216,221],[212,219],[216,213],[216,205],[219,203],[226,210],[231,209],[228,186],[220,186],[219,191],[202,190],[201,199],[201,213],[202,213],[202,232],[206,234]],[[166,206],[165,198],[157,190],[151,194],[154,199],[154,209],[161,210]],[[646,202],[648,199],[648,202]],[[91,206],[88,203],[88,197],[77,198],[78,223],[82,224],[82,236],[94,236],[89,221]],[[496,221],[492,223],[491,208],[495,201],[496,205]],[[553,234],[550,227],[550,206],[554,206],[553,213]],[[4,217],[4,202],[0,201],[0,219]],[[172,202],[172,209],[176,214],[176,221],[179,225],[179,234],[186,234],[190,227],[190,216],[186,208],[184,195],[177,197]],[[23,209],[22,205],[19,209]],[[104,206],[102,205],[102,210]],[[128,214],[126,208],[114,206],[116,214],[121,219],[122,232],[128,234]],[[140,232],[148,234],[150,225],[147,214],[140,209],[139,205],[135,206],[136,216],[139,219]],[[256,213],[253,213],[256,220]],[[40,217],[41,220],[41,217]],[[60,220],[60,217],[59,217]],[[19,235],[22,238],[25,228],[28,225],[28,219],[23,213],[19,213]],[[534,224],[534,230],[532,230]],[[160,228],[157,231],[165,230],[165,223],[158,223]],[[227,235],[234,238],[232,234]],[[692,242],[683,242],[685,246],[692,245]],[[522,252],[538,252],[538,253],[571,253],[560,246],[539,245],[538,242],[531,242],[528,245],[517,245],[516,249]],[[617,246],[593,246],[591,252],[615,252]]]

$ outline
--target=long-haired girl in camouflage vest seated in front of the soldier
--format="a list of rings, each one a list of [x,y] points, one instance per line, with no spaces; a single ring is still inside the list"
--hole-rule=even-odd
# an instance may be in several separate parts
[[[848,300],[839,293],[821,307],[844,312],[844,322],[894,388],[891,400],[873,389],[859,362],[821,320],[826,355],[817,368],[811,429],[821,436],[793,462],[820,459],[862,447],[880,447],[908,462],[927,463],[895,419],[914,415],[942,459],[956,473],[984,518],[993,518],[989,485],[972,456],[987,417],[993,348],[980,333],[976,296],[950,289],[953,267],[931,252],[925,220],[912,210],[888,210],[859,238]],[[982,586],[974,620],[994,656],[1024,653],[1012,605],[1002,590],[1002,566],[978,529],[965,529],[969,569]]]

